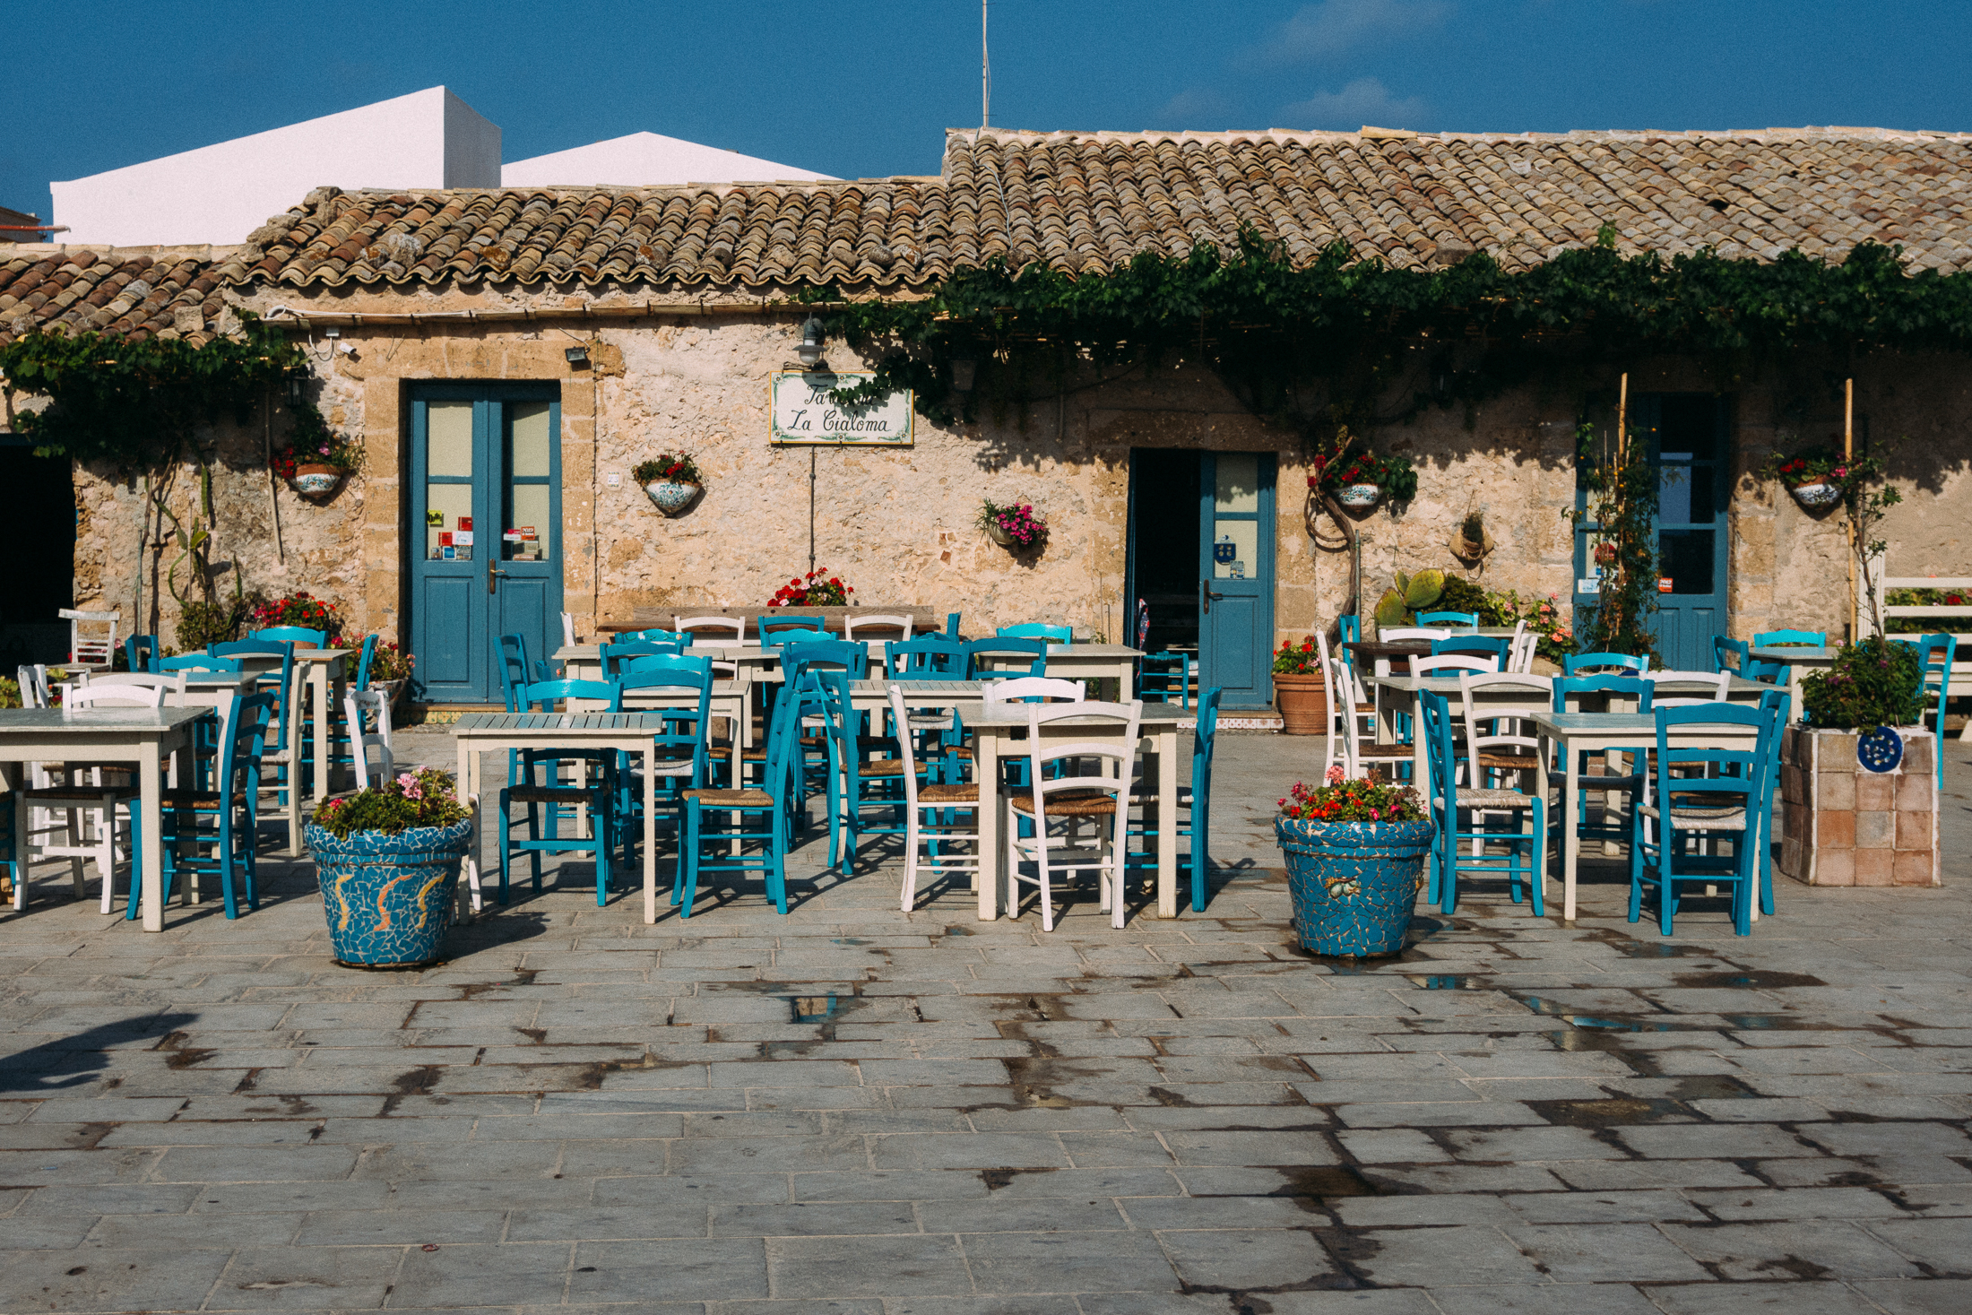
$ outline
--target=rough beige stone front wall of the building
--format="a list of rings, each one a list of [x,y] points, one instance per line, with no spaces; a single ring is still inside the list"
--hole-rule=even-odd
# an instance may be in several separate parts
[[[335,351],[314,337],[317,400],[335,428],[363,438],[365,469],[325,507],[276,491],[278,548],[262,428],[217,436],[215,556],[239,560],[250,588],[306,588],[337,601],[359,631],[396,637],[408,601],[402,544],[414,509],[400,475],[410,386],[426,379],[560,386],[564,605],[584,633],[649,607],[765,603],[807,568],[812,461],[816,564],[854,584],[862,603],[964,611],[968,629],[1069,621],[1120,637],[1132,448],[1278,453],[1276,639],[1329,625],[1347,601],[1349,554],[1335,526],[1323,517],[1311,536],[1303,520],[1307,467],[1298,440],[1246,414],[1215,377],[1183,365],[1150,379],[1077,381],[1025,414],[988,414],[978,424],[937,428],[919,418],[909,450],[810,451],[767,442],[767,377],[791,361],[799,325],[799,313],[783,308],[751,302],[724,313],[410,323],[402,319],[410,311],[556,310],[564,298],[280,290],[246,304],[264,311],[274,302],[302,313],[400,319],[345,327]],[[590,347],[592,369],[564,359],[576,341]],[[840,343],[830,343],[828,357],[836,369],[860,365]],[[1771,625],[1840,633],[1846,621],[1840,520],[1814,520],[1749,475],[1775,444],[1824,438],[1830,426],[1840,438],[1840,394],[1830,404],[1828,371],[1830,363],[1798,363],[1722,381],[1690,363],[1639,363],[1631,373],[1633,392],[1727,388],[1737,398],[1729,597],[1739,635]],[[1893,570],[1972,574],[1962,513],[1972,371],[1954,359],[1877,359],[1856,371],[1858,412],[1873,440],[1907,436],[1895,475],[1909,503],[1887,526]],[[1526,388],[1471,414],[1428,410],[1380,430],[1380,448],[1416,461],[1420,495],[1402,515],[1378,509],[1361,522],[1365,601],[1394,570],[1436,566],[1566,603],[1576,404],[1562,388]],[[661,450],[690,451],[706,475],[704,499],[674,520],[629,475]],[[138,495],[85,473],[77,497],[77,597],[128,607]],[[176,497],[189,511],[189,479]],[[992,544],[974,526],[988,497],[1033,503],[1051,526],[1047,550],[1016,558]],[[1497,540],[1477,570],[1447,548],[1471,509]],[[146,580],[144,589],[150,611],[154,584]],[[166,597],[168,639],[172,613]]]

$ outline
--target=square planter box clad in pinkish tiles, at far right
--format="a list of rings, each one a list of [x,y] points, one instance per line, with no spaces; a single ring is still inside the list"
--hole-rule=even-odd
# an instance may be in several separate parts
[[[1873,773],[1854,731],[1789,726],[1781,739],[1781,871],[1806,885],[1940,885],[1933,733],[1903,727],[1903,763]]]

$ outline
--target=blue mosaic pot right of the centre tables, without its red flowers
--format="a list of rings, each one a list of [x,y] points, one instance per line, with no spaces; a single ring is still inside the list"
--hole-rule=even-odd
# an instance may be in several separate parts
[[[1432,822],[1274,818],[1294,931],[1315,954],[1396,954],[1424,885]]]

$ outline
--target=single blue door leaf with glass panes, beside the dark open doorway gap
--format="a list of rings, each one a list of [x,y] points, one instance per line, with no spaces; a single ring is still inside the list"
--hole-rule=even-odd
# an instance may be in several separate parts
[[[1274,455],[1207,451],[1199,469],[1199,688],[1274,702]]]

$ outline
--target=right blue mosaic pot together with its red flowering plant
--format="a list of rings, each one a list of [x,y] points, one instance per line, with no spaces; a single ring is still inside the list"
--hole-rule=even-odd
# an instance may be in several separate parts
[[[1274,834],[1302,948],[1349,956],[1404,948],[1436,834],[1416,791],[1345,779],[1335,765],[1321,787],[1296,783],[1280,800]]]

